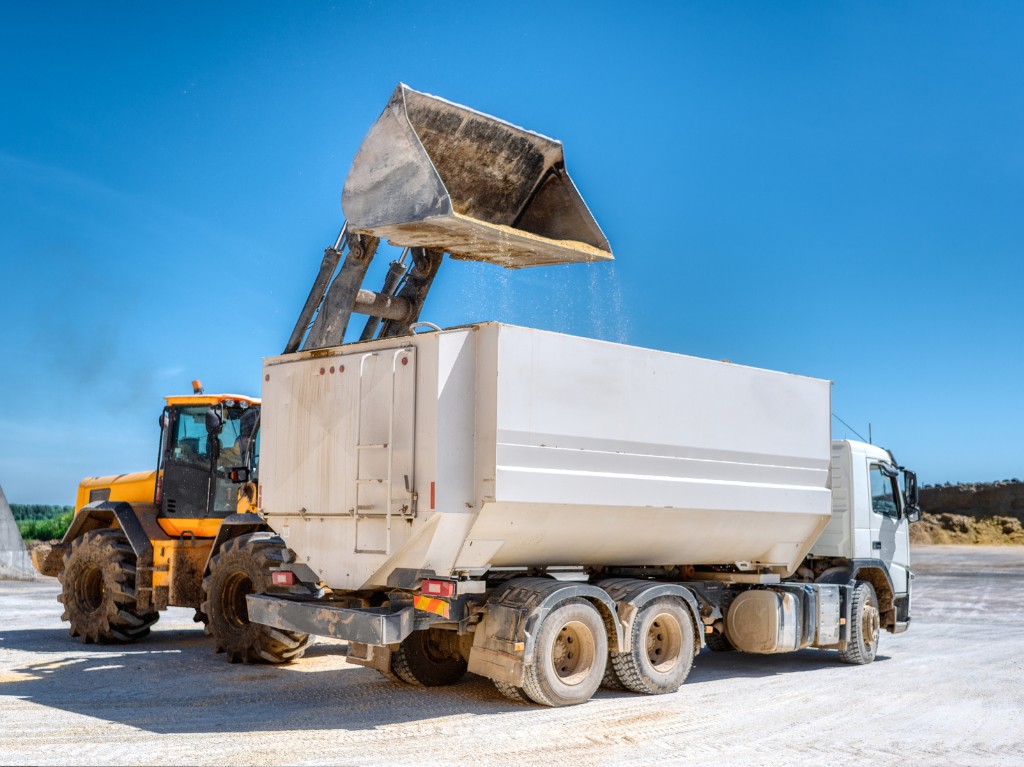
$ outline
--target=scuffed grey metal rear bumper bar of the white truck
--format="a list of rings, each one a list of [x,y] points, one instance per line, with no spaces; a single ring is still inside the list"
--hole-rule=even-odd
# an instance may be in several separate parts
[[[362,644],[397,644],[413,633],[416,623],[411,606],[338,607],[266,594],[250,594],[246,603],[253,623]]]

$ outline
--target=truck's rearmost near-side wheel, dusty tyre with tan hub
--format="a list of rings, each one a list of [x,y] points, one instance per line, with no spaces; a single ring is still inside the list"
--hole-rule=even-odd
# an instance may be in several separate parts
[[[601,613],[586,599],[568,599],[538,628],[522,689],[542,706],[586,702],[601,684],[607,663],[608,636]]]

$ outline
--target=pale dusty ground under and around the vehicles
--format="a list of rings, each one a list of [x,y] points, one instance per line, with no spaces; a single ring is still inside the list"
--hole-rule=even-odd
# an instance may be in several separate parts
[[[1024,547],[914,552],[914,623],[879,659],[705,651],[682,689],[512,704],[483,679],[414,689],[317,644],[230,666],[190,611],[84,646],[55,581],[0,582],[0,763],[1020,765]]]

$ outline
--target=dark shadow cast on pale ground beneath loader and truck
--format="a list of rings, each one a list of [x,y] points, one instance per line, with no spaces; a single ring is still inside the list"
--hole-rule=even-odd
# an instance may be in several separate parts
[[[389,681],[345,664],[340,649],[314,644],[295,664],[247,666],[214,653],[199,629],[154,632],[131,645],[83,645],[66,629],[6,631],[0,632],[0,658],[9,663],[14,651],[36,656],[14,668],[5,664],[0,695],[161,734],[364,730],[466,713],[543,711],[508,700],[473,675],[431,689]],[[40,653],[57,657],[39,659]],[[705,651],[683,689],[736,677],[827,673],[838,663],[835,652],[819,650],[774,657]],[[597,694],[618,696],[633,697]]]

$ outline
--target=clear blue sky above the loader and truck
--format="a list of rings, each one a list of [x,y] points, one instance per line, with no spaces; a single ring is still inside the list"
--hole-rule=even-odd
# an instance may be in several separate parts
[[[4,3],[0,485],[258,394],[399,81],[561,139],[616,257],[446,263],[422,318],[827,378],[923,481],[1021,476],[1022,49],[1017,3]]]

